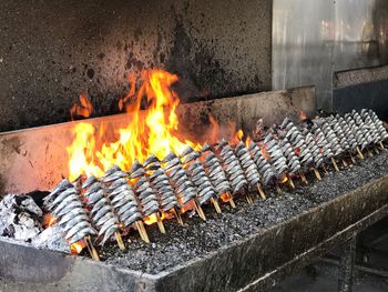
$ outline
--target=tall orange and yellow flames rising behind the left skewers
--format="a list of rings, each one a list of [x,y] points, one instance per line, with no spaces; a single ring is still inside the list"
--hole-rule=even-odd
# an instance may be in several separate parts
[[[171,89],[177,81],[175,74],[160,70],[146,70],[142,73],[141,85],[130,77],[130,91],[119,102],[125,109],[129,122],[118,130],[119,139],[114,142],[103,142],[106,133],[104,128],[96,131],[89,122],[80,122],[73,128],[73,143],[67,148],[69,153],[69,179],[75,180],[81,174],[102,175],[113,164],[123,170],[130,169],[134,160],[144,161],[151,153],[163,159],[171,151],[181,153],[186,145],[197,149],[198,144],[177,138],[178,119],[175,109],[180,99]],[[88,109],[88,98],[81,95],[81,107],[73,107],[72,112]],[[141,111],[145,99],[149,108]],[[86,112],[86,110],[85,110]],[[98,148],[98,144],[102,144]]]

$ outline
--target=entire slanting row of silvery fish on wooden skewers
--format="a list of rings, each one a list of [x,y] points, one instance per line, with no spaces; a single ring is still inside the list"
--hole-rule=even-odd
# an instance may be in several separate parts
[[[50,219],[48,229],[58,231],[62,248],[55,250],[64,251],[67,245],[68,251],[80,253],[86,248],[91,258],[100,260],[106,242],[124,250],[131,245],[127,235],[137,232],[150,243],[150,224],[166,233],[169,220],[185,225],[197,214],[206,221],[207,205],[222,213],[225,204],[238,209],[242,200],[265,204],[285,189],[309,184],[312,175],[323,180],[386,151],[387,139],[387,130],[371,110],[300,123],[286,118],[270,128],[259,120],[246,141],[187,147],[182,153],[136,161],[130,170],[113,165],[101,178],[64,179],[44,198],[42,209]]]

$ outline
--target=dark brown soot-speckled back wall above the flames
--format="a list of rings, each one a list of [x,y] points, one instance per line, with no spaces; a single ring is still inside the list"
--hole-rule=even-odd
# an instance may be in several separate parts
[[[272,1],[2,0],[0,131],[118,112],[129,72],[177,73],[185,101],[270,89]]]

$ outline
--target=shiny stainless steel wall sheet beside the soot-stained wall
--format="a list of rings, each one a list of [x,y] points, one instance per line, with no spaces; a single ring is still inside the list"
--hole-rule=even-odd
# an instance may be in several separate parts
[[[333,109],[333,73],[388,58],[388,1],[274,0],[273,89],[316,84]]]

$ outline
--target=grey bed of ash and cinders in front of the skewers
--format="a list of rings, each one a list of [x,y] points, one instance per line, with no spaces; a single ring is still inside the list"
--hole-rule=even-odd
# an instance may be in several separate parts
[[[197,217],[184,217],[185,226],[174,220],[165,222],[167,234],[161,234],[155,226],[147,231],[153,243],[143,243],[136,233],[126,239],[127,249],[121,251],[114,244],[106,244],[100,251],[101,259],[108,263],[132,270],[156,274],[190,260],[203,258],[211,252],[228,246],[231,243],[246,240],[251,234],[286,221],[324,202],[330,201],[348,191],[378,179],[388,173],[388,151],[374,158],[357,161],[340,172],[329,170],[321,181],[308,177],[308,185],[297,182],[296,190],[284,188],[280,195],[268,193],[268,199],[256,199],[248,205],[243,198],[236,200],[236,209],[222,207],[223,213],[216,214],[211,207],[204,208],[207,221]]]

